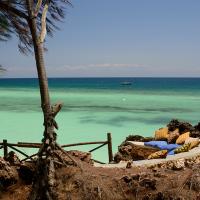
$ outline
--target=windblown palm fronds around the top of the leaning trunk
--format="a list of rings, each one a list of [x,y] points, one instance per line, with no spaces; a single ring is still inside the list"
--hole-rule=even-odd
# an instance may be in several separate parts
[[[38,2],[41,1],[41,4]],[[52,36],[58,21],[65,17],[66,5],[71,5],[68,0],[31,0],[32,16],[27,10],[27,0],[0,0],[0,40],[7,41],[13,35],[19,39],[19,50],[22,53],[32,52],[33,42],[29,29],[29,20],[35,17],[38,33],[41,31],[42,11],[46,3],[49,9],[46,19],[47,35]],[[40,5],[38,7],[38,5]]]

